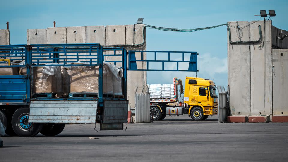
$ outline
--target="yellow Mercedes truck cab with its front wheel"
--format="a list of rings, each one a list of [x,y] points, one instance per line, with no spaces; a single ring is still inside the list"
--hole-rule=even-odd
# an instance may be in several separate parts
[[[212,80],[186,77],[184,103],[188,104],[188,115],[194,120],[207,119],[217,115],[216,86]]]

